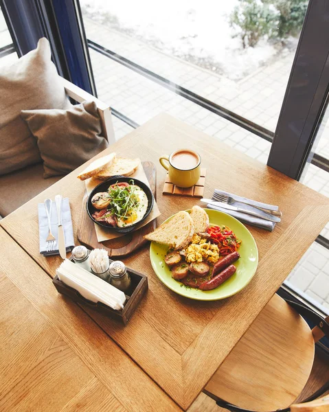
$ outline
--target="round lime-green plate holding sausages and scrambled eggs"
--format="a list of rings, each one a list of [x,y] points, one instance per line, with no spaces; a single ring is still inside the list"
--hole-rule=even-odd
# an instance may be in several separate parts
[[[194,288],[186,288],[181,282],[172,279],[170,270],[164,261],[168,251],[167,246],[152,242],[150,245],[150,261],[157,277],[159,277],[161,282],[174,292],[189,297],[190,299],[213,301],[235,295],[249,284],[251,278],[256,273],[258,265],[258,249],[255,239],[247,227],[242,225],[236,218],[217,210],[205,209],[205,211],[209,216],[210,226],[226,225],[229,229],[234,231],[238,239],[242,240],[238,250],[240,259],[234,263],[236,266],[236,273],[234,273],[234,275],[216,289],[198,290]]]

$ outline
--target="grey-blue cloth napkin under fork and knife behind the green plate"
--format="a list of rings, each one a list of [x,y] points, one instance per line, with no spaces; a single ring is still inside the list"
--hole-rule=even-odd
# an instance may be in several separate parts
[[[263,207],[264,209],[269,209],[271,211],[279,210],[278,206],[267,205],[266,203],[256,202],[256,201],[253,201],[251,199],[244,198],[242,196],[237,196],[236,194],[231,194],[229,192],[224,192],[223,190],[215,189],[214,193],[216,193],[216,194],[225,194],[226,196],[231,196],[231,197],[236,199],[236,202],[230,203],[231,206],[241,207],[242,209],[245,209],[245,210],[256,211],[258,214],[260,214],[260,216],[266,216],[266,214],[264,213],[264,211],[262,211],[260,209],[257,209],[256,207],[253,207],[253,206]],[[249,205],[246,205],[245,203],[240,203],[239,201],[240,202],[247,202],[247,203],[249,203]],[[256,227],[260,227],[261,229],[266,229],[266,230],[269,230],[269,231],[273,231],[273,229],[275,227],[275,222],[270,222],[269,220],[265,220],[264,218],[257,218],[256,216],[251,216],[249,214],[242,213],[241,211],[229,210],[229,209],[225,209],[224,207],[214,206],[214,205],[210,205],[210,204],[208,204],[207,207],[209,209],[215,209],[215,210],[223,211],[224,213],[233,216],[234,218],[240,220],[241,222],[248,223],[249,225],[253,225],[253,226],[256,226]],[[278,219],[278,221],[280,222],[280,219]]]

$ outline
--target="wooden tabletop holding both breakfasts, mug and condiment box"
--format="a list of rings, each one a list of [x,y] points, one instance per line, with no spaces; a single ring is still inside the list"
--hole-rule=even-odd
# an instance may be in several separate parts
[[[258,244],[260,260],[256,275],[242,292],[229,299],[192,301],[176,295],[159,282],[150,266],[148,248],[144,248],[124,259],[128,266],[146,273],[149,282],[148,293],[130,323],[124,327],[88,308],[84,310],[182,409],[188,409],[326,225],[329,201],[214,137],[169,115],[159,115],[106,150],[115,151],[121,157],[139,157],[141,161],[151,160],[157,164],[157,203],[162,213],[158,223],[179,210],[201,204],[194,198],[161,195],[166,172],[157,159],[184,147],[198,151],[203,167],[207,168],[205,197],[210,197],[214,188],[220,188],[279,205],[282,209],[282,222],[273,232],[249,227]],[[52,277],[61,260],[59,256],[43,258],[38,253],[37,203],[45,198],[54,199],[56,194],[68,196],[76,233],[84,192],[84,183],[76,176],[84,167],[65,176],[0,222],[5,231]],[[22,282],[29,279],[26,276],[21,278]],[[62,299],[58,297],[58,308],[63,310],[63,306],[66,310],[68,303],[60,304]],[[70,321],[73,321],[72,317],[69,317]],[[67,320],[67,326],[70,321]],[[80,315],[74,322],[81,324]],[[83,334],[79,329],[74,338],[81,345]],[[98,341],[83,346],[86,351],[87,347],[89,350],[102,350]],[[90,367],[92,365],[91,359]]]

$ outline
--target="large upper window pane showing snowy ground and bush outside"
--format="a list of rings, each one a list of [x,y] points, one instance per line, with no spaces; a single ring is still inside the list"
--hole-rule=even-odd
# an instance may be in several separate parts
[[[87,38],[275,130],[307,0],[80,0]]]

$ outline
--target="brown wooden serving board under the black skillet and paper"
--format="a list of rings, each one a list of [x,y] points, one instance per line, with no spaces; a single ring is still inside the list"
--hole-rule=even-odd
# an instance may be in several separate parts
[[[155,164],[151,161],[143,161],[141,164],[143,165],[144,172],[150,183],[150,188],[156,199],[157,169],[155,168]],[[149,222],[144,227],[141,227],[141,229],[128,233],[121,238],[106,240],[106,242],[102,243],[98,242],[95,225],[91,218],[89,218],[86,210],[87,197],[88,194],[86,191],[82,200],[80,217],[78,220],[77,236],[80,244],[83,244],[88,249],[105,249],[109,253],[109,256],[113,257],[128,255],[148,242],[143,236],[155,229],[157,226],[156,219],[152,220],[152,222]]]

